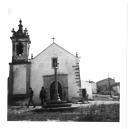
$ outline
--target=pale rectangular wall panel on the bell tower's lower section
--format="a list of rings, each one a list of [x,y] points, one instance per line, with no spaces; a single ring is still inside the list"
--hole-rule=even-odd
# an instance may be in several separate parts
[[[14,65],[13,73],[13,94],[26,94],[26,65]]]

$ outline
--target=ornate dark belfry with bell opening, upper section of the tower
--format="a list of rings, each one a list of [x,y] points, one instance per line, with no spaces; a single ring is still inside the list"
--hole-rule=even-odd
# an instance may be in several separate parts
[[[23,30],[22,21],[19,21],[19,29],[15,31],[12,29],[12,63],[25,63],[28,62],[30,38],[27,28]]]

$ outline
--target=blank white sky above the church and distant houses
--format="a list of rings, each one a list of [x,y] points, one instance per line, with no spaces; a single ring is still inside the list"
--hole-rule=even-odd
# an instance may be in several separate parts
[[[124,3],[120,0],[54,0],[8,8],[8,62],[11,30],[19,19],[31,39],[30,55],[36,56],[52,43],[80,56],[81,80],[120,81],[124,66]]]

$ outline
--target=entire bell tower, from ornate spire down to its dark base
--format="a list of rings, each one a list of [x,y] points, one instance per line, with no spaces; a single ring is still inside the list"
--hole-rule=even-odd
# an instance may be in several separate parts
[[[31,61],[29,57],[30,38],[27,28],[23,30],[19,21],[18,30],[12,29],[12,61],[9,63],[8,102],[15,99],[25,99],[30,87]]]

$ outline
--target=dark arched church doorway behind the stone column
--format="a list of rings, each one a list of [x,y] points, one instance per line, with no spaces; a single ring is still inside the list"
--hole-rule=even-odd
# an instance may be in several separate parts
[[[50,100],[54,101],[55,100],[55,81],[50,85]],[[60,99],[62,100],[62,86],[61,84],[58,82],[58,94]]]

